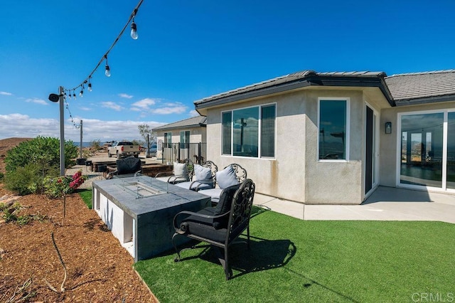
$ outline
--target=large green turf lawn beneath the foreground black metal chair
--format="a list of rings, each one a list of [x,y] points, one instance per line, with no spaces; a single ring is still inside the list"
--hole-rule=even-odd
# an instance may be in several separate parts
[[[257,208],[256,208],[257,211]],[[272,211],[232,246],[225,281],[213,250],[169,252],[134,267],[161,302],[415,302],[455,294],[455,225],[304,221]],[[422,301],[422,300],[421,300]]]

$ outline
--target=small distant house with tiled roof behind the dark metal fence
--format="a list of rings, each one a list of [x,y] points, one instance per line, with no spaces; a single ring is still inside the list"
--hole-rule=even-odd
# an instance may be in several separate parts
[[[158,143],[156,158],[171,162],[206,159],[206,120],[203,116],[191,117],[152,129]]]

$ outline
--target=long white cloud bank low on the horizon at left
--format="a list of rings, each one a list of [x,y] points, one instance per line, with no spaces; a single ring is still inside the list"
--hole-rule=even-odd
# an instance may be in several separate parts
[[[149,127],[159,127],[166,123],[154,121],[103,121],[100,119],[83,119],[75,117],[75,121],[82,119],[82,140],[91,142],[100,140],[101,142],[121,140],[121,139],[142,139],[137,129],[139,124],[147,124]],[[0,115],[0,125],[9,125],[9,127],[0,127],[0,139],[21,137],[34,138],[43,137],[60,137],[60,122],[58,119],[34,119],[28,115],[11,114]],[[71,119],[65,121],[65,139],[80,141],[80,129],[73,126]]]

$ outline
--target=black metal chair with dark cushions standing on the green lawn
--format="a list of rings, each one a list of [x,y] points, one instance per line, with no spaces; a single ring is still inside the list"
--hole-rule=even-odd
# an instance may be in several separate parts
[[[208,243],[216,248],[218,260],[225,270],[226,280],[229,280],[232,277],[229,248],[245,230],[247,246],[250,248],[250,215],[254,196],[255,184],[251,179],[246,179],[242,184],[224,188],[220,203],[216,207],[203,208],[197,213],[181,211],[176,214],[173,218],[176,233],[172,236],[173,247],[177,252],[174,261],[178,262],[181,259],[181,250],[177,249],[174,241],[177,235]],[[185,249],[188,248],[183,250]]]

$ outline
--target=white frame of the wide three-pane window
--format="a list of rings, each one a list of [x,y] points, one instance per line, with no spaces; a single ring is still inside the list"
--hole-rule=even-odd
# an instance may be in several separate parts
[[[274,156],[262,156],[261,147],[262,147],[262,107],[274,106]],[[245,110],[257,107],[259,121],[257,123],[257,156],[235,156],[233,154],[233,144],[234,144],[234,132],[233,132],[233,123],[234,123],[234,112],[237,110]],[[230,154],[223,154],[223,114],[230,112]],[[277,157],[277,102],[264,103],[262,105],[252,105],[247,107],[237,107],[232,110],[223,110],[220,112],[221,118],[221,136],[220,136],[220,154],[221,156],[231,156],[235,158],[245,158],[245,159],[276,159]]]

